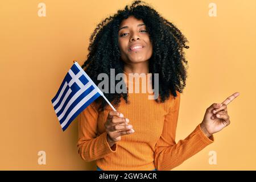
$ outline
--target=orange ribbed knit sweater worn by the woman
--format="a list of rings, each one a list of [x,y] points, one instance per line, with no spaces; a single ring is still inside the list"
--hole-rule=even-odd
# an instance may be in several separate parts
[[[78,117],[81,158],[96,160],[103,170],[170,170],[201,151],[214,139],[208,138],[200,125],[187,138],[175,142],[180,105],[180,93],[176,93],[176,98],[170,96],[164,103],[148,100],[149,93],[129,93],[130,104],[122,98],[116,109],[129,118],[135,132],[123,135],[112,147],[104,127],[112,108],[98,111],[95,102],[90,104]]]

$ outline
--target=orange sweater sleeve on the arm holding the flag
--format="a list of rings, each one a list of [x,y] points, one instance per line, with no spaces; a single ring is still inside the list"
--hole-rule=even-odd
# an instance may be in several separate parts
[[[79,116],[79,140],[77,147],[82,159],[86,162],[104,158],[117,151],[117,144],[112,147],[107,142],[107,133],[98,134],[98,111],[94,102],[86,107]]]

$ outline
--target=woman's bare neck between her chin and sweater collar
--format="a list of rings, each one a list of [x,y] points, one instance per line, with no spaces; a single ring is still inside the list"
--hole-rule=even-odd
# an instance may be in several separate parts
[[[123,67],[123,71],[126,73],[148,73],[148,61],[143,61],[141,63],[133,63],[133,64],[127,64],[125,63]]]

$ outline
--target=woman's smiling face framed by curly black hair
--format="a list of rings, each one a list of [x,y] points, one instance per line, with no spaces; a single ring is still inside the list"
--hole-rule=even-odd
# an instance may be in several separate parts
[[[118,31],[121,59],[125,63],[140,63],[152,56],[152,43],[143,20],[134,16],[122,20]]]

